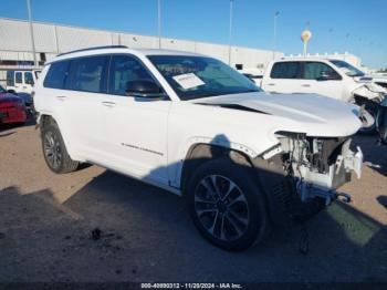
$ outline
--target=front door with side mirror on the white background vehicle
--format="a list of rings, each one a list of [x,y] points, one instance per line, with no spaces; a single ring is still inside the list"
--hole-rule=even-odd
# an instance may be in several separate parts
[[[323,73],[331,77],[321,79]],[[301,93],[321,94],[337,100],[343,96],[344,82],[342,76],[324,62],[304,62],[300,83]]]

